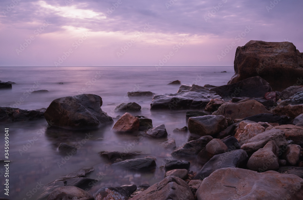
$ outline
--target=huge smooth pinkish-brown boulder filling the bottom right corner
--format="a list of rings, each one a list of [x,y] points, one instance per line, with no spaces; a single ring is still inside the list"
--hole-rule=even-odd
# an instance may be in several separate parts
[[[301,200],[303,179],[275,171],[254,172],[248,169],[218,169],[204,179],[196,192],[197,200]]]

